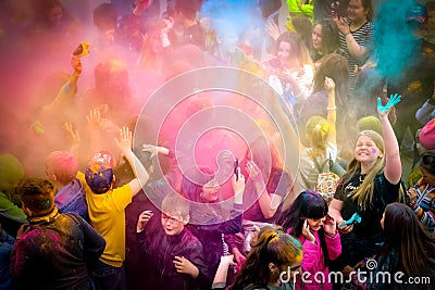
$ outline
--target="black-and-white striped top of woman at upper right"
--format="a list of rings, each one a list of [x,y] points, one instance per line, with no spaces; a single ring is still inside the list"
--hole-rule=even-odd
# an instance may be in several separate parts
[[[350,52],[349,49],[347,47],[347,42],[346,42],[346,36],[340,31],[340,46],[341,49],[345,51],[345,55],[346,59],[348,61],[348,70],[349,70],[349,96],[352,96],[353,92],[353,88],[355,88],[355,78],[356,78],[356,65],[362,66],[366,60],[370,56],[370,51],[373,48],[373,24],[371,22],[365,22],[364,25],[362,25],[360,28],[358,28],[355,31],[350,31],[353,36],[355,41],[358,42],[358,45],[368,48],[369,49],[369,53],[366,53],[365,58],[362,60],[357,60],[356,58],[353,58]]]

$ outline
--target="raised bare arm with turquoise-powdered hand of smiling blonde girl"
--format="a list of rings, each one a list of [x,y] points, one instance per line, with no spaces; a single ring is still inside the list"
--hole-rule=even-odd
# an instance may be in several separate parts
[[[399,143],[388,119],[388,113],[393,106],[400,102],[400,96],[395,93],[389,97],[388,103],[384,106],[381,98],[377,99],[377,113],[380,116],[385,143],[385,178],[393,185],[397,185],[401,178],[401,162]]]

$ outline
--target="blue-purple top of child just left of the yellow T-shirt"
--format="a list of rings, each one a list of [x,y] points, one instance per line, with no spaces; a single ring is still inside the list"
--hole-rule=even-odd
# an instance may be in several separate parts
[[[61,188],[54,196],[54,204],[61,213],[77,213],[89,222],[88,205],[86,204],[85,190],[80,180],[73,181]]]

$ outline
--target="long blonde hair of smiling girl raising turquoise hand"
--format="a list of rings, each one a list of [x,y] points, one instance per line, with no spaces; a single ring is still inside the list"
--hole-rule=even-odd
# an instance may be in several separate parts
[[[363,130],[358,134],[356,144],[361,136],[366,136],[373,140],[381,150],[382,155],[377,159],[373,168],[368,173],[362,184],[353,190],[352,200],[358,201],[358,205],[365,210],[368,205],[373,203],[373,192],[375,187],[376,175],[383,173],[385,167],[385,143],[382,136],[373,130]],[[361,172],[361,163],[355,157],[349,163],[344,180],[350,180],[357,172]]]

